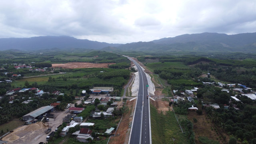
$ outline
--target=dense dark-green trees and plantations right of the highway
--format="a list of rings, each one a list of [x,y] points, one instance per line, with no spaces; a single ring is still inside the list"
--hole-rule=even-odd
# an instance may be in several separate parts
[[[204,56],[192,55],[165,55],[165,56],[142,56],[138,60],[143,62],[160,78],[166,80],[171,85],[172,90],[184,91],[186,89],[198,87],[196,94],[199,100],[196,102],[180,102],[174,106],[177,114],[188,114],[188,108],[192,105],[198,107],[197,114],[202,114],[202,110],[206,111],[208,118],[220,129],[230,135],[230,142],[236,140],[243,143],[256,144],[256,106],[255,102],[247,96],[242,96],[233,92],[233,88],[242,88],[238,84],[246,85],[255,90],[256,88],[256,60],[254,54],[234,53],[227,55],[211,55],[211,58]],[[250,58],[250,59],[249,59]],[[240,60],[238,60],[240,59]],[[207,75],[210,73],[210,75]],[[202,76],[202,77],[200,77]],[[222,88],[215,85],[203,85],[202,82],[222,82],[224,84],[236,84],[229,88],[229,93],[221,91]],[[251,90],[243,90],[250,92]],[[176,94],[181,95],[180,92]],[[241,102],[232,100],[230,96],[237,95]],[[170,103],[171,104],[171,103]],[[203,104],[218,104],[220,108],[203,107]],[[229,106],[228,109],[224,105]],[[235,108],[239,108],[236,110]],[[194,120],[196,122],[196,119]],[[194,142],[194,134],[190,128],[192,124],[189,121],[181,121],[181,125],[186,129],[189,143]],[[226,138],[222,136],[222,138]],[[202,143],[218,144],[217,141],[210,140],[206,137],[200,137],[198,140]]]

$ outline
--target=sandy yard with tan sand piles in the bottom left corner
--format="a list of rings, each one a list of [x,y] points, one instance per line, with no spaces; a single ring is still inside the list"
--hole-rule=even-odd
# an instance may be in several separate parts
[[[48,127],[43,122],[25,125],[15,129],[11,134],[4,137],[8,144],[34,144],[36,140],[44,135]]]

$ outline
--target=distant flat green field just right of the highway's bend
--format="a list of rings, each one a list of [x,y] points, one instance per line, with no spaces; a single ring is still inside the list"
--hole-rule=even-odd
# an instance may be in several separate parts
[[[154,62],[146,64],[146,66],[153,70],[162,68],[189,68],[188,66],[184,65],[183,62]]]

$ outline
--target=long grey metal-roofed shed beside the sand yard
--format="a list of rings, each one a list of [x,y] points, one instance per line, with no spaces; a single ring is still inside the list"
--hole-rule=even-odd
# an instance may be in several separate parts
[[[30,112],[24,116],[22,116],[23,120],[29,120],[29,119],[36,119],[36,117],[40,116],[41,114],[44,114],[50,110],[53,110],[52,106],[43,106],[41,108],[38,108],[37,110],[34,110],[33,112]]]

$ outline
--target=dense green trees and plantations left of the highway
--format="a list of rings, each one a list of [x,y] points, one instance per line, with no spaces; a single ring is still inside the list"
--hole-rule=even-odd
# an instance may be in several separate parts
[[[9,54],[6,54],[9,53]],[[12,53],[12,54],[10,54]],[[90,92],[93,86],[112,86],[113,94],[120,96],[122,86],[127,83],[130,77],[130,71],[124,70],[130,66],[130,60],[118,54],[102,51],[74,51],[74,52],[20,52],[5,51],[0,52],[0,80],[12,80],[13,82],[0,82],[0,95],[3,96],[7,91],[14,88],[38,88],[44,93],[40,98],[36,97],[36,91],[15,92],[13,104],[9,103],[9,96],[3,96],[0,101],[0,124],[10,121],[12,118],[20,118],[25,114],[50,105],[52,102],[61,101],[56,108],[63,110],[67,103],[72,102],[75,96],[80,96],[82,90]],[[113,62],[116,63],[113,68],[80,68],[80,69],[63,69],[55,70],[46,69],[45,72],[31,71],[29,68],[15,69],[16,64],[26,64],[35,66],[32,69],[51,67],[52,63],[64,62]],[[15,63],[15,65],[14,65]],[[63,72],[59,74],[59,72]],[[13,74],[21,74],[14,77]],[[51,76],[41,76],[35,78],[22,78],[23,76],[38,76],[44,74],[57,74]],[[61,91],[63,96],[52,94],[54,91]],[[33,100],[28,104],[22,104],[23,101]],[[90,115],[95,106],[88,106],[81,113],[84,118]]]

